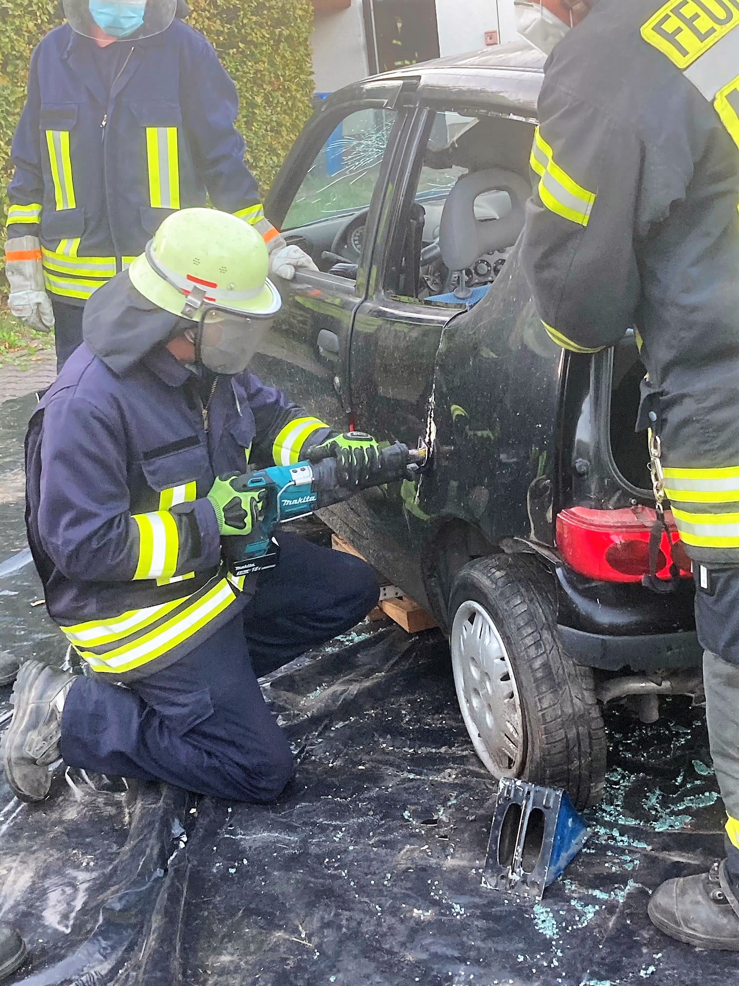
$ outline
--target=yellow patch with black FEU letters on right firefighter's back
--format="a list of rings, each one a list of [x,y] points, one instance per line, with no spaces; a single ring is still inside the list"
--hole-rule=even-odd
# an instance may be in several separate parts
[[[688,68],[734,28],[733,0],[669,0],[641,25],[641,36],[680,69]]]

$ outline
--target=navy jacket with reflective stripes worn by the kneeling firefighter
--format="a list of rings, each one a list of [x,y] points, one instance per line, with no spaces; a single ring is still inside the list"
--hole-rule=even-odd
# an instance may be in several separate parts
[[[80,656],[141,677],[232,619],[254,585],[222,561],[215,476],[297,462],[329,432],[252,374],[198,375],[164,345],[116,372],[83,343],[26,441],[35,565]]]

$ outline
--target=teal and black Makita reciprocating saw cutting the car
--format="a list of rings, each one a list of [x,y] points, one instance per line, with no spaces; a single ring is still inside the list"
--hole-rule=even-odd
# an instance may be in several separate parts
[[[358,432],[350,436],[362,438]],[[287,521],[311,514],[321,507],[349,500],[359,490],[382,486],[399,479],[411,478],[426,462],[424,449],[409,449],[396,442],[378,456],[370,478],[359,486],[348,488],[337,479],[335,458],[319,462],[298,462],[295,465],[271,465],[266,469],[245,472],[232,480],[235,489],[264,491],[259,517],[252,523],[251,533],[223,539],[224,554],[235,576],[253,575],[274,568],[280,548],[274,537],[275,528]]]

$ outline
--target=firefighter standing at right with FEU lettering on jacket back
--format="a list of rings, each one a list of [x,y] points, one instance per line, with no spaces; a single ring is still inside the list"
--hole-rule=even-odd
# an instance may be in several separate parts
[[[726,859],[663,883],[649,917],[682,942],[739,951],[739,0],[516,9],[542,50],[562,38],[545,67],[522,244],[537,311],[575,353],[638,331],[638,427],[696,577]]]

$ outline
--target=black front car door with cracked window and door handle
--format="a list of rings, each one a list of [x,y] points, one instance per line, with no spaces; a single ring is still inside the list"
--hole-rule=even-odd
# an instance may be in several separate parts
[[[354,316],[367,293],[382,194],[407,126],[402,90],[401,82],[368,83],[329,99],[306,124],[266,202],[287,242],[302,246],[319,270],[276,279],[283,308],[254,372],[340,430],[351,420]]]

